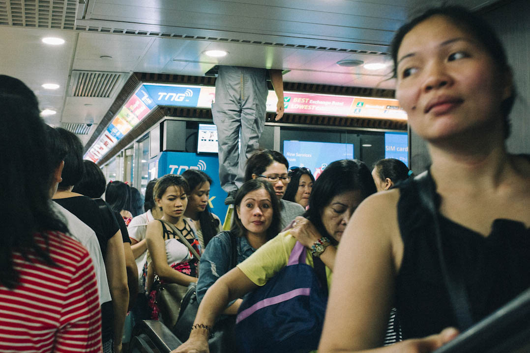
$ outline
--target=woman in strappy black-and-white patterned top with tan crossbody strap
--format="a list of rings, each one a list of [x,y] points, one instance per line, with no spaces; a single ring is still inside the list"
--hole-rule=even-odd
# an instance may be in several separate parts
[[[184,220],[188,192],[188,182],[181,175],[167,174],[157,180],[153,195],[156,205],[162,209],[162,220],[171,223],[200,255],[199,241],[189,223]],[[198,275],[198,259],[181,242],[179,235],[162,220],[152,220],[146,230],[145,287],[152,310],[151,318],[155,320],[158,319],[156,297],[160,287],[156,282],[176,283],[185,287],[191,282],[197,282]]]

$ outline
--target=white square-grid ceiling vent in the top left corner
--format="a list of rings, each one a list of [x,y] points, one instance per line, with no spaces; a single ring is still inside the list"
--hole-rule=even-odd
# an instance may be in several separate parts
[[[77,0],[0,0],[0,25],[73,30]]]

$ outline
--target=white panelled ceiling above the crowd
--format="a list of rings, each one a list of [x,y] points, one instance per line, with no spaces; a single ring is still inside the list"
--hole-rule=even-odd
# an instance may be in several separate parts
[[[452,3],[476,9],[493,2]],[[385,54],[393,32],[429,3],[438,2],[6,0],[0,1],[0,73],[24,81],[41,109],[57,111],[45,118],[48,123],[94,123],[90,134],[131,72],[203,76],[226,64],[290,70],[285,81],[393,88]],[[65,44],[44,44],[45,36]],[[202,54],[209,49],[229,54],[220,59]],[[101,58],[105,55],[112,58]],[[377,71],[337,66],[345,59],[388,66]],[[108,98],[74,97],[77,71],[125,75]],[[43,83],[60,88],[45,90]],[[80,135],[83,143],[90,134]]]

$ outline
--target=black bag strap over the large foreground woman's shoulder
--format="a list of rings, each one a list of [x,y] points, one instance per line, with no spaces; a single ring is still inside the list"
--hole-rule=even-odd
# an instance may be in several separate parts
[[[461,331],[469,328],[473,324],[473,317],[471,315],[469,299],[465,288],[464,277],[460,271],[453,273],[453,277],[449,275],[447,265],[444,258],[444,252],[441,244],[440,222],[438,217],[438,208],[435,202],[435,185],[429,171],[425,171],[414,178],[418,195],[421,204],[427,208],[432,216],[432,222],[436,236],[436,248],[438,252],[438,260],[440,262],[441,274],[444,277],[444,282],[449,292],[449,300],[453,306],[453,312],[458,321],[458,329]]]

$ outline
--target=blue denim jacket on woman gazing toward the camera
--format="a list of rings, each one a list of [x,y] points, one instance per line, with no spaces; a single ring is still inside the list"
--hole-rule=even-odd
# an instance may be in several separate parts
[[[236,236],[237,263],[252,255],[256,249],[250,246],[245,237]],[[222,231],[211,238],[208,246],[202,253],[199,264],[199,280],[197,281],[197,300],[202,300],[208,288],[217,281],[217,278],[232,270],[232,242],[230,235]],[[235,302],[232,301],[229,305]],[[228,305],[228,306],[229,306]]]

